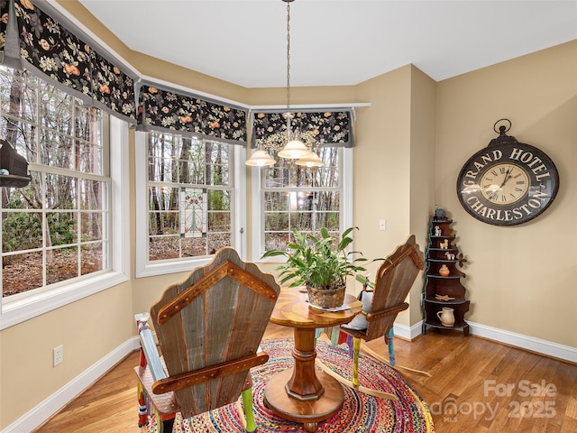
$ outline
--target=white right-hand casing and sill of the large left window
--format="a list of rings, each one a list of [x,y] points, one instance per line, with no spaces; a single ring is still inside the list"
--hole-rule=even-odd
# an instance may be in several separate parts
[[[108,118],[107,154],[112,180],[108,198],[111,215],[111,271],[88,275],[69,283],[62,282],[53,289],[41,290],[20,299],[0,299],[0,330],[130,280],[130,221],[123,217],[130,215],[128,124],[112,115],[103,115]]]

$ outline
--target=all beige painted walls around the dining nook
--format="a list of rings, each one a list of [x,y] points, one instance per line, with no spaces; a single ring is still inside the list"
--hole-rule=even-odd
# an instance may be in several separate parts
[[[62,4],[91,23],[89,17],[75,12],[77,2]],[[98,30],[92,24],[90,28]],[[105,41],[145,75],[250,105],[285,101],[279,89],[239,88],[145,59],[102,32]],[[294,91],[295,104],[331,102],[371,103],[358,109],[355,127],[353,224],[361,227],[355,247],[367,257],[382,256],[414,233],[425,251],[428,219],[435,204],[444,207],[455,221],[457,243],[469,259],[464,285],[472,310],[467,318],[577,347],[573,323],[577,316],[577,41],[440,83],[406,66],[355,87]],[[501,117],[513,122],[511,134],[519,141],[548,153],[560,172],[561,189],[554,204],[523,226],[477,222],[461,208],[455,194],[458,171],[495,136],[492,125]],[[131,209],[133,222],[133,201]],[[378,228],[380,218],[387,220],[384,232]],[[133,245],[132,229],[132,257]],[[132,259],[132,273],[133,269]],[[148,309],[161,290],[182,278],[184,274],[133,279],[1,331],[0,428],[126,342],[135,333],[133,314]],[[409,295],[411,308],[399,318],[403,325],[420,320],[421,289],[422,281]],[[60,344],[65,346],[65,362],[52,368],[51,349]]]

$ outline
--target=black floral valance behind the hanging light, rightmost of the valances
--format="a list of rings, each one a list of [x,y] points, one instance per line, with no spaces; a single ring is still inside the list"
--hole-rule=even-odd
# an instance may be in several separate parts
[[[271,134],[287,131],[287,121],[282,113],[255,113],[252,124],[252,147]],[[292,131],[311,132],[321,145],[353,147],[351,112],[325,111],[295,113],[291,120]]]

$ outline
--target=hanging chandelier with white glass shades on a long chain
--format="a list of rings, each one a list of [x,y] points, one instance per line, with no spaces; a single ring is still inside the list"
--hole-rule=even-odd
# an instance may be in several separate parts
[[[295,117],[290,112],[290,4],[294,0],[282,0],[287,4],[287,111],[283,117],[287,120],[286,134],[272,134],[264,143],[259,143],[259,148],[254,152],[251,158],[246,161],[246,165],[264,167],[274,165],[276,162],[267,150],[278,151],[280,158],[297,159],[297,165],[307,167],[322,167],[325,165],[316,154],[315,135],[307,131],[300,133],[298,129],[293,133],[291,121]]]

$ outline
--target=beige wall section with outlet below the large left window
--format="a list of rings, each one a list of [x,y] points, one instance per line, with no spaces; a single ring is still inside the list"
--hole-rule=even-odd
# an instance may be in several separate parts
[[[1,331],[0,428],[5,428],[134,335],[132,284],[78,300]],[[64,362],[52,367],[52,348]]]

